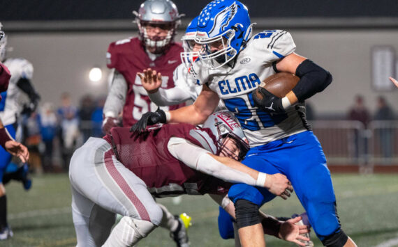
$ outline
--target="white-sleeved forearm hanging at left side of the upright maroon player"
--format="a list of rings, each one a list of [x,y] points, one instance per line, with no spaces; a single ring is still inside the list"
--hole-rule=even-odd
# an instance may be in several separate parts
[[[105,117],[117,118],[126,103],[127,83],[122,74],[115,72],[110,92],[103,106]]]

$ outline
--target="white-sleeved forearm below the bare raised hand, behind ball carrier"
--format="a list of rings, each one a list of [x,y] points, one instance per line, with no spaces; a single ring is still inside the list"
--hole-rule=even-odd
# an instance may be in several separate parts
[[[189,93],[177,87],[170,89],[159,88],[156,93],[148,93],[148,96],[158,106],[172,106],[191,99]]]

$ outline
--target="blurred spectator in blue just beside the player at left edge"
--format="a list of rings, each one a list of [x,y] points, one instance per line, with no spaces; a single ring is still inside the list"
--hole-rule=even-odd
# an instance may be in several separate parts
[[[36,174],[43,173],[43,166],[41,164],[40,145],[40,117],[36,111],[32,112],[28,118],[24,118],[24,143],[29,150],[29,166]]]

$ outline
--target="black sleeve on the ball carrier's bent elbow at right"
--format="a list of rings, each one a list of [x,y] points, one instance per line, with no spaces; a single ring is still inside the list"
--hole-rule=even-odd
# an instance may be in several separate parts
[[[299,102],[322,92],[332,82],[332,74],[309,59],[298,65],[296,75],[300,81],[293,88],[293,93]]]

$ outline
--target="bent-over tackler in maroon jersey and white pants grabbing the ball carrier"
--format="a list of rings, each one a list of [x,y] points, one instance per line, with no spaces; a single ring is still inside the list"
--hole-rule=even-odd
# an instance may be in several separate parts
[[[147,237],[163,214],[152,196],[209,193],[233,216],[225,181],[263,186],[288,198],[291,186],[284,175],[266,175],[238,162],[248,148],[228,111],[214,113],[202,128],[158,125],[141,135],[113,128],[103,139],[89,138],[73,154],[69,170],[78,246],[133,246]],[[115,213],[124,217],[111,231]],[[300,233],[307,227],[294,225],[299,219],[264,220],[268,233],[296,243],[305,239]]]

